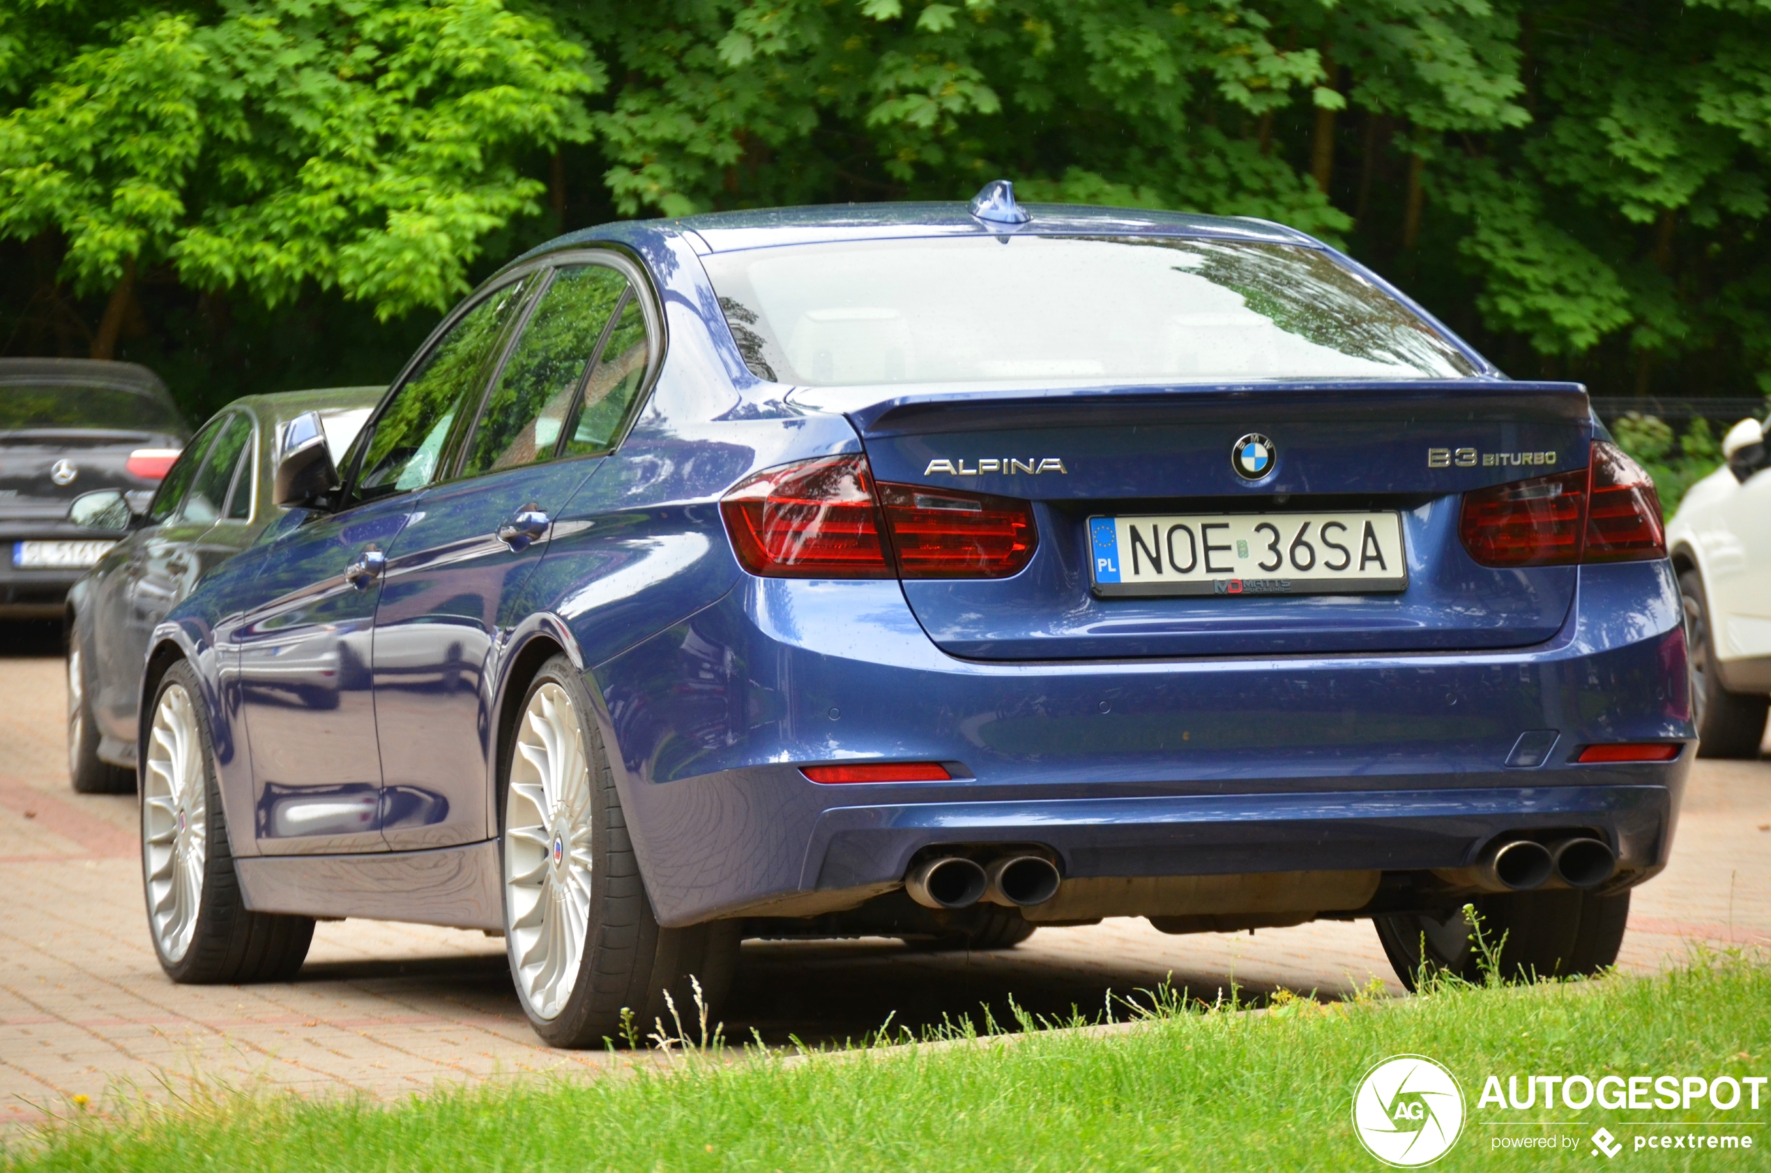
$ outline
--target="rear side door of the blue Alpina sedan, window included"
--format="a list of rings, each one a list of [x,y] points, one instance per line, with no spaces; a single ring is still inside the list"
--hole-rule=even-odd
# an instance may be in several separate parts
[[[494,833],[487,780],[501,633],[551,517],[593,473],[646,369],[636,268],[579,257],[540,289],[499,363],[455,475],[425,493],[400,535],[375,613],[375,723],[398,851]],[[638,361],[630,351],[638,344]],[[627,367],[599,354],[627,354]]]

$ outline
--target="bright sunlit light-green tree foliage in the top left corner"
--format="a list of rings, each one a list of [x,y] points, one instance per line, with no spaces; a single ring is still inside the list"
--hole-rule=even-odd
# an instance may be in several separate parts
[[[0,120],[0,234],[58,232],[62,275],[113,303],[163,264],[271,307],[313,282],[379,317],[441,308],[537,211],[515,156],[584,140],[602,83],[501,0],[119,7],[80,43],[78,0],[35,12],[0,25],[0,80],[28,89]]]

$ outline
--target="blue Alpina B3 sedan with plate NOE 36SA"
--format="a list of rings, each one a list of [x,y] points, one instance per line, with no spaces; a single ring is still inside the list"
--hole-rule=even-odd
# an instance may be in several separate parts
[[[1652,482],[1257,220],[708,214],[512,262],[156,631],[152,937],[501,932],[535,1029],[754,936],[1371,918],[1617,955],[1693,753]]]

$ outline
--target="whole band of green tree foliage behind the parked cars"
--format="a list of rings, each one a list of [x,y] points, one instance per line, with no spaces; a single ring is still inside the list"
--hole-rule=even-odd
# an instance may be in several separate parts
[[[1771,390],[1764,0],[165,2],[0,9],[0,232],[78,294],[386,317],[489,239],[1004,175],[1316,232],[1514,376]]]

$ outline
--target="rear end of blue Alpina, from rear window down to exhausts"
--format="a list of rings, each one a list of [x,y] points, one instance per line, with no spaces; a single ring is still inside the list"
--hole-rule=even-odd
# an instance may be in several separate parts
[[[855,439],[739,482],[739,588],[599,668],[742,679],[609,693],[643,781],[710,781],[636,790],[696,843],[661,916],[1187,932],[1658,872],[1679,595],[1583,388],[1272,225],[1054,220],[701,230],[751,370]]]

